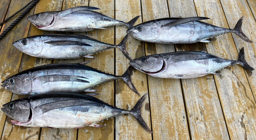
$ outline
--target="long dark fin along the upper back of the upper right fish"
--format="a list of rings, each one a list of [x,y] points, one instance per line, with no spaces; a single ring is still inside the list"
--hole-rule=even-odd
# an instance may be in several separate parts
[[[177,19],[173,22],[166,23],[166,24],[162,25],[162,27],[165,27],[165,26],[173,27],[173,26],[176,26],[176,25],[179,25],[179,24],[184,24],[184,23],[187,23],[187,22],[204,20],[204,19],[209,19],[209,18],[208,17],[185,17],[185,18]]]

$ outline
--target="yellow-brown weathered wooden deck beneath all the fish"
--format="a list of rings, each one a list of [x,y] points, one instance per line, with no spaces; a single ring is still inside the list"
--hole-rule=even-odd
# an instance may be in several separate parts
[[[1,0],[0,20],[3,21],[30,1]],[[205,22],[233,28],[245,15],[243,31],[256,41],[255,0],[41,0],[27,16],[88,5],[125,22],[142,15],[135,24],[163,17],[205,16],[210,18]],[[34,58],[12,46],[12,42],[18,39],[51,33],[36,29],[26,19],[27,16],[0,41],[1,81],[39,65],[83,61]],[[1,32],[13,20],[0,26]],[[124,26],[112,26],[89,34],[100,41],[118,44],[126,30]],[[205,44],[163,45],[144,43],[131,37],[127,45],[134,59],[156,53],[206,49],[218,57],[237,60],[239,50],[244,47],[247,62],[256,68],[256,43],[247,43],[230,33]],[[105,72],[122,75],[129,67],[129,61],[118,49],[100,52],[95,57],[86,60],[92,61],[90,66]],[[2,139],[256,139],[256,71],[250,74],[236,65],[222,69],[221,74],[179,80],[154,78],[135,70],[132,80],[136,88],[142,95],[150,95],[142,108],[142,116],[153,134],[147,133],[130,115],[104,121],[102,125],[106,126],[103,128],[49,129],[12,126],[10,118],[0,111],[0,136]],[[120,108],[131,109],[140,98],[121,80],[105,83],[96,89],[100,93],[97,98]],[[0,92],[0,105],[22,97],[4,88],[0,88]]]

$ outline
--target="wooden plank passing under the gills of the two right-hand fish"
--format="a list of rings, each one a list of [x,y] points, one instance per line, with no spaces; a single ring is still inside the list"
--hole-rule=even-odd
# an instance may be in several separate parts
[[[143,22],[169,17],[167,1],[141,1]],[[151,11],[151,12],[150,12]],[[146,55],[175,51],[174,45],[145,43]],[[189,139],[179,79],[148,76],[154,139]]]

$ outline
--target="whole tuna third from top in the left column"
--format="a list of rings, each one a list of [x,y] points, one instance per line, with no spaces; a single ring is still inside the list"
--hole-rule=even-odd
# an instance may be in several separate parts
[[[86,66],[88,62],[77,64],[49,64],[19,72],[1,85],[3,88],[20,95],[35,95],[53,92],[89,92],[91,88],[104,82],[123,79],[128,87],[139,95],[131,80],[133,67],[122,76],[101,72]]]

